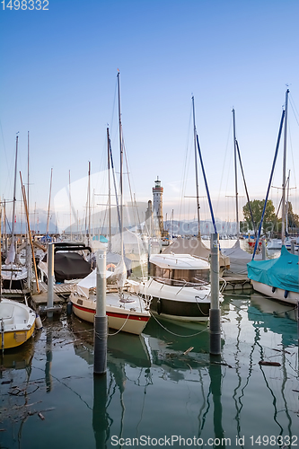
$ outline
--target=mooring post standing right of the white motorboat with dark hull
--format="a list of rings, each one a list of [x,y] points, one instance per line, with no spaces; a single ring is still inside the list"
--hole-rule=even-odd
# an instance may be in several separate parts
[[[211,307],[210,318],[210,354],[221,355],[221,330],[219,307],[219,234],[211,234]]]

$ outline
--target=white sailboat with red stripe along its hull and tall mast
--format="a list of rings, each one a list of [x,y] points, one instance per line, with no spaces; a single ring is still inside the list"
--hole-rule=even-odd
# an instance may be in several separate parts
[[[114,277],[115,284],[108,286],[106,293],[106,313],[108,326],[115,330],[140,335],[150,319],[149,304],[138,295],[138,283],[127,279],[127,267],[124,260],[123,245],[123,137],[120,114],[120,89],[119,92],[119,147],[120,147],[120,206],[119,206],[119,233],[120,233],[120,260],[113,272],[107,275]],[[75,292],[70,296],[73,311],[76,316],[85,321],[94,321],[96,312],[96,270],[80,281],[75,287]]]

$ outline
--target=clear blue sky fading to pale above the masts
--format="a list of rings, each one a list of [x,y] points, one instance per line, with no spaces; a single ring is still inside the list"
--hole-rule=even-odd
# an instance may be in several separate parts
[[[5,2],[7,4],[8,2]],[[36,2],[35,2],[36,4]],[[1,4],[3,8],[3,4]],[[49,0],[48,11],[0,11],[1,198],[27,177],[31,142],[31,207],[47,210],[69,180],[106,168],[106,128],[119,166],[116,94],[136,199],[152,198],[157,175],[164,213],[195,216],[191,95],[215,215],[233,220],[233,131],[251,198],[264,198],[289,84],[299,110],[299,4],[295,0]],[[287,168],[295,187],[298,112],[289,107]],[[273,185],[282,182],[282,146]],[[106,189],[100,180],[97,187]],[[201,172],[200,196],[205,196]],[[186,188],[182,192],[183,179]],[[18,186],[19,186],[18,182]],[[20,187],[19,187],[20,190]],[[271,190],[277,200],[277,189]],[[295,209],[296,190],[292,189]],[[240,209],[243,197],[239,173]],[[20,197],[20,193],[18,194]],[[207,200],[201,212],[208,217]],[[68,205],[66,204],[66,210]],[[299,213],[299,210],[296,210]]]

